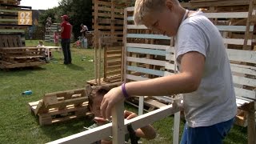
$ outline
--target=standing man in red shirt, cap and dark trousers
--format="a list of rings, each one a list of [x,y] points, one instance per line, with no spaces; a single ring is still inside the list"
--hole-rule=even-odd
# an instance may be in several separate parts
[[[69,22],[69,17],[67,15],[62,15],[62,24],[61,24],[61,38],[62,38],[62,51],[64,54],[64,64],[71,64],[71,52],[70,52],[70,38],[72,34],[72,26]]]

